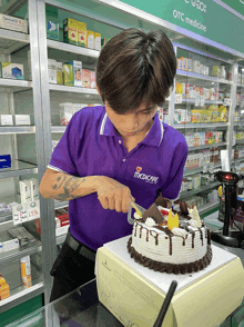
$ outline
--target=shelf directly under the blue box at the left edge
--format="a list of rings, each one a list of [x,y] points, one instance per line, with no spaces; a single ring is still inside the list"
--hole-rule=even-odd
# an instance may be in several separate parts
[[[0,170],[1,178],[18,177],[23,175],[38,174],[38,168],[33,164],[23,162],[21,160],[13,160],[11,162],[12,167],[3,168]]]

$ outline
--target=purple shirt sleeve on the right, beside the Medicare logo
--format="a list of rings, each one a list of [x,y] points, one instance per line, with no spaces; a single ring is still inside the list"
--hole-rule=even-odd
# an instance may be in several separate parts
[[[175,148],[174,155],[172,156],[170,175],[166,179],[166,182],[162,187],[162,197],[170,200],[177,198],[183,179],[187,152],[189,148],[185,141],[179,143],[179,146]]]

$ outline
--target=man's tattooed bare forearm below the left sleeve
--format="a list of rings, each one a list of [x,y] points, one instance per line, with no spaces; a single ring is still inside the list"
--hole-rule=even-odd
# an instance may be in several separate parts
[[[49,199],[73,200],[95,192],[101,178],[102,176],[74,177],[69,174],[55,172],[43,177],[40,192]]]

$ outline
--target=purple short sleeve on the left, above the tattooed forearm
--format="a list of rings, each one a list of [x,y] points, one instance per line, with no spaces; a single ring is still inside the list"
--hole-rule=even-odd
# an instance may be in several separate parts
[[[70,120],[67,126],[65,132],[57,145],[51,160],[49,162],[50,166],[59,168],[60,170],[73,175],[77,175],[75,167],[75,135],[78,133],[75,127],[75,115]]]

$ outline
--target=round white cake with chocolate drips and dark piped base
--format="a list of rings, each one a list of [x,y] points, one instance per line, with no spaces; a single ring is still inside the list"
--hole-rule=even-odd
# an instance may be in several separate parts
[[[162,196],[142,215],[134,214],[132,236],[128,241],[131,257],[155,271],[191,274],[212,260],[211,234],[200,219],[196,207],[180,201],[172,209]]]

